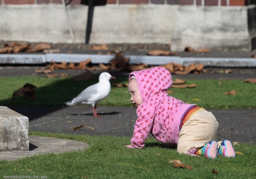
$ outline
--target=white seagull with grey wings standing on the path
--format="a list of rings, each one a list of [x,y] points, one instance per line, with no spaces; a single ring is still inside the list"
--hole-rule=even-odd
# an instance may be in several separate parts
[[[96,105],[109,95],[111,89],[110,79],[115,79],[115,77],[111,76],[108,72],[101,73],[98,83],[88,86],[77,97],[65,104],[68,106],[79,103],[91,104],[93,106],[93,116],[99,117],[100,115],[97,115]]]

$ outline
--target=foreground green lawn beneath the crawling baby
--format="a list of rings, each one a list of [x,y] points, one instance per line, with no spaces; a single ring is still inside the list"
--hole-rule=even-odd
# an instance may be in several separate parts
[[[144,149],[129,149],[130,138],[78,136],[30,132],[30,135],[56,137],[90,144],[84,151],[38,154],[17,161],[0,161],[0,177],[10,175],[47,176],[47,178],[255,178],[256,146],[234,145],[244,155],[236,158],[179,154],[148,138]],[[169,161],[180,160],[192,170],[175,168]],[[212,173],[212,169],[218,173]]]

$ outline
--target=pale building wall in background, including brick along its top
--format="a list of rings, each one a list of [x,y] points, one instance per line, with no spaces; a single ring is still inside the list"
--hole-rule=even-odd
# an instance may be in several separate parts
[[[255,4],[256,0],[0,0],[0,40],[165,43],[172,51],[186,46],[251,51],[256,44]]]

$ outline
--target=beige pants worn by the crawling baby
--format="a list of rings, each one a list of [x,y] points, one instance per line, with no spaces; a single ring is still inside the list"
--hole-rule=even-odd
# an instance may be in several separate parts
[[[197,111],[180,130],[177,152],[188,154],[191,148],[200,148],[211,140],[217,140],[218,126],[211,112]]]

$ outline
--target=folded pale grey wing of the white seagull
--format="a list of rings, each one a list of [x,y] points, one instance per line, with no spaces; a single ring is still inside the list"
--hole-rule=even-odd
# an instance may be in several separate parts
[[[96,83],[94,85],[88,86],[86,89],[84,89],[76,98],[74,103],[82,103],[87,102],[92,95],[95,95],[98,93],[98,87],[99,83]]]

